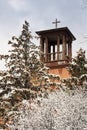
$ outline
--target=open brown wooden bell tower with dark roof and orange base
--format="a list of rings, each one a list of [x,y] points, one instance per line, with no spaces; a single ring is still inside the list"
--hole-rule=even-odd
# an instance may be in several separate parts
[[[57,20],[56,20],[57,22]],[[76,40],[68,27],[42,30],[36,32],[40,37],[43,52],[41,61],[50,68],[50,72],[62,78],[70,77],[66,67],[72,59],[72,42]]]

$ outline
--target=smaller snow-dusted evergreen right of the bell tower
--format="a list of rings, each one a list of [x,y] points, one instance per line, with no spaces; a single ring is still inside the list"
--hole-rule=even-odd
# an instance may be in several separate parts
[[[87,88],[87,58],[83,49],[77,52],[77,56],[72,59],[67,69],[71,74],[71,78],[63,80],[67,88],[72,90],[77,86]]]

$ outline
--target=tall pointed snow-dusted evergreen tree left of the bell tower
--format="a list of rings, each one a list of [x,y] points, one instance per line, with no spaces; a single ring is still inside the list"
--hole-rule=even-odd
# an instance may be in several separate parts
[[[0,71],[0,100],[8,100],[12,106],[22,99],[46,94],[53,77],[40,61],[40,49],[31,42],[28,27],[29,23],[25,21],[21,35],[13,36],[8,42],[11,45],[9,55],[0,55],[6,63],[6,71]]]

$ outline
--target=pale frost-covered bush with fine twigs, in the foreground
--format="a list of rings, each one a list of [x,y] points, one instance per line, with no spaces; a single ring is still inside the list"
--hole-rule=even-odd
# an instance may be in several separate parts
[[[59,90],[48,98],[23,100],[10,130],[87,130],[87,92]]]

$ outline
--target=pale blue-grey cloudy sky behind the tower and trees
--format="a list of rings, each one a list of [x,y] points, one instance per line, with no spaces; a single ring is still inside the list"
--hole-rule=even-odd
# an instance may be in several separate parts
[[[85,0],[0,0],[0,53],[7,53],[8,40],[20,35],[27,20],[32,35],[36,31],[52,29],[57,18],[59,27],[68,27],[76,41],[73,56],[79,48],[87,50],[87,7]],[[37,43],[37,41],[36,41]]]

